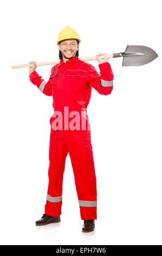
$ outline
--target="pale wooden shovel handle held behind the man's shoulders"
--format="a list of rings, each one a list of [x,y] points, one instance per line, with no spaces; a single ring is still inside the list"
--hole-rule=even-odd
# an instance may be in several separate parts
[[[109,59],[109,58],[113,58],[113,54],[105,54],[103,56],[100,56],[101,59]],[[92,57],[83,57],[83,58],[79,58],[80,60],[83,60],[84,62],[88,62],[89,60],[95,60],[96,56],[92,56]],[[36,66],[46,66],[46,65],[54,65],[54,64],[58,64],[60,62],[60,60],[54,60],[52,62],[38,62],[36,63]],[[12,69],[21,69],[21,68],[32,68],[33,64],[22,64],[22,65],[13,65],[11,66]]]

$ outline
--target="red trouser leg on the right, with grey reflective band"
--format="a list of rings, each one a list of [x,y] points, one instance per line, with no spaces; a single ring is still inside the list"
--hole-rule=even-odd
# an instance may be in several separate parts
[[[97,220],[97,189],[90,131],[73,131],[67,139],[82,220]]]

